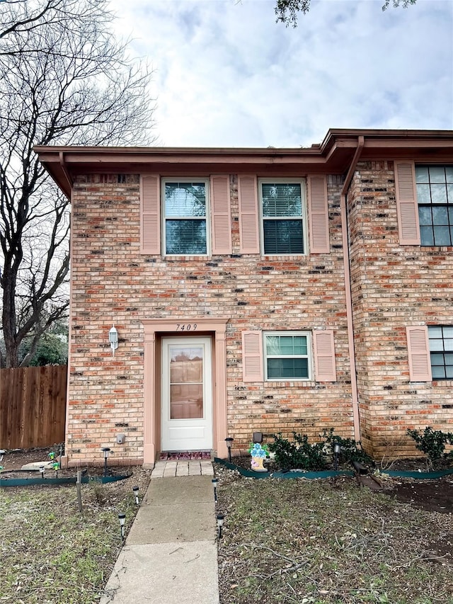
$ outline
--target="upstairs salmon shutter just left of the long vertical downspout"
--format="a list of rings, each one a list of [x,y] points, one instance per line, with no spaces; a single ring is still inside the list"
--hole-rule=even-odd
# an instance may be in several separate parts
[[[329,253],[328,203],[326,176],[309,176],[309,229],[310,252]]]

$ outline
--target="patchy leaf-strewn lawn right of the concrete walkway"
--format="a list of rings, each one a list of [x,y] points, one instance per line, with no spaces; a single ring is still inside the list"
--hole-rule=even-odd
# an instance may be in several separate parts
[[[452,506],[415,509],[343,477],[218,470],[222,604],[453,603]]]

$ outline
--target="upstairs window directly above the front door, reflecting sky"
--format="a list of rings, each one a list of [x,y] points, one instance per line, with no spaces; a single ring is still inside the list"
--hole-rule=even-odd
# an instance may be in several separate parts
[[[167,255],[207,255],[207,192],[207,181],[164,180],[164,250]]]

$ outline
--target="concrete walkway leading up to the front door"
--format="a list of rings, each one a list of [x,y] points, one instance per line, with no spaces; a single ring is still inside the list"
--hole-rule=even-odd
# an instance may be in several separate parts
[[[219,604],[211,462],[157,462],[101,604]]]

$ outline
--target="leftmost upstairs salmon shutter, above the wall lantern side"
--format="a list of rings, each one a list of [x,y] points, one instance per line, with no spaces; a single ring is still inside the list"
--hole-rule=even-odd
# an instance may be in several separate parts
[[[161,198],[159,176],[140,182],[140,252],[161,253]]]

